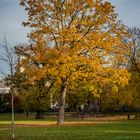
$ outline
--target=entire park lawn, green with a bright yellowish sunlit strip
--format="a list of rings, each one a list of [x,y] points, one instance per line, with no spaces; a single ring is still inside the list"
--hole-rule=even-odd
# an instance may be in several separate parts
[[[120,119],[120,118],[119,118]],[[66,119],[57,126],[54,118],[37,121],[33,116],[16,115],[16,140],[140,140],[140,121]],[[11,139],[9,114],[0,114],[0,140]]]

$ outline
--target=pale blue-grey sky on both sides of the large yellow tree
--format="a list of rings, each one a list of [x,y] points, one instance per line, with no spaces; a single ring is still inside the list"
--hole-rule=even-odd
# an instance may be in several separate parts
[[[119,20],[129,27],[140,27],[140,0],[108,0],[118,13]],[[26,20],[24,8],[19,6],[19,0],[0,0],[0,44],[3,44],[6,34],[9,46],[27,43],[29,29],[22,26]],[[0,52],[1,53],[1,52]],[[0,68],[2,63],[0,63]],[[5,67],[3,65],[3,67]],[[4,69],[4,68],[3,68]]]

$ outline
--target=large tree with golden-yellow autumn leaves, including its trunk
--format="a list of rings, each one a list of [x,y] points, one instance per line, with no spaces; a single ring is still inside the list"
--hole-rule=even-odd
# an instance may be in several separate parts
[[[59,90],[58,124],[64,121],[69,85],[83,80],[96,92],[96,83],[127,82],[128,34],[110,2],[87,0],[20,0],[28,12],[23,24],[32,30],[30,44],[20,48],[24,73],[34,83],[41,78]],[[126,80],[122,80],[122,79]],[[111,78],[112,79],[112,78]],[[73,83],[73,84],[72,84]]]

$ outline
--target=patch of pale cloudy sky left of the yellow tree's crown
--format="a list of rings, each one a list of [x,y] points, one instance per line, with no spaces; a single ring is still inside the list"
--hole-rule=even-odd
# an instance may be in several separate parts
[[[19,6],[19,0],[0,0],[0,43],[6,34],[10,45],[27,42],[27,28],[21,23],[25,21],[24,8]]]

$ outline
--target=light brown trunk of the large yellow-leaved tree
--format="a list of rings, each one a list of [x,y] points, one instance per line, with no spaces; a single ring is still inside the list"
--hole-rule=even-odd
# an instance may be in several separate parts
[[[61,86],[61,90],[60,90],[59,112],[58,112],[58,120],[57,120],[58,125],[62,125],[64,123],[66,92],[67,92],[67,84],[64,83]]]

